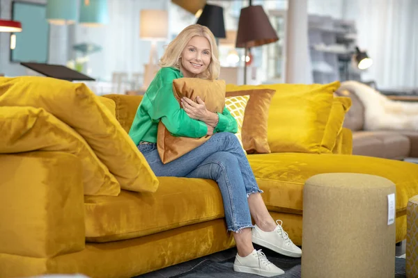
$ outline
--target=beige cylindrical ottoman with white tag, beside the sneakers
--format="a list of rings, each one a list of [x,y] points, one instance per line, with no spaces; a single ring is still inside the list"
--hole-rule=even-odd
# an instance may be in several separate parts
[[[303,190],[302,277],[393,278],[394,194],[392,181],[369,174],[308,179]]]

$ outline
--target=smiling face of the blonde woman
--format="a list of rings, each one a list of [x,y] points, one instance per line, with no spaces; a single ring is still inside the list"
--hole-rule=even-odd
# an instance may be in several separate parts
[[[181,53],[183,76],[195,77],[208,69],[210,64],[210,44],[207,38],[194,36]]]

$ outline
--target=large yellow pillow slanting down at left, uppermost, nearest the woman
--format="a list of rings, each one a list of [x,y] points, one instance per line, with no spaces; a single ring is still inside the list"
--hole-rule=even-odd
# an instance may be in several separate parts
[[[0,106],[44,108],[75,129],[121,184],[155,192],[158,179],[115,117],[84,83],[38,76],[0,78]]]

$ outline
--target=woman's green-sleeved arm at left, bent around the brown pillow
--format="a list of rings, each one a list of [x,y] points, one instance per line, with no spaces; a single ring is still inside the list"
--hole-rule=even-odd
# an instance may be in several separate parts
[[[173,136],[185,136],[201,138],[208,133],[208,126],[204,122],[191,119],[173,95],[173,80],[175,74],[170,69],[162,69],[160,72],[160,86],[153,99],[152,106],[148,111],[150,117],[157,121],[161,120],[167,130]]]

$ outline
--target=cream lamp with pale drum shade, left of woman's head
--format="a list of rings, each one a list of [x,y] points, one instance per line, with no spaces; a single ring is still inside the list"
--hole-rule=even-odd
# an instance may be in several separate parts
[[[141,10],[139,37],[151,41],[150,59],[144,69],[143,89],[148,88],[158,66],[157,42],[167,40],[167,10]]]

